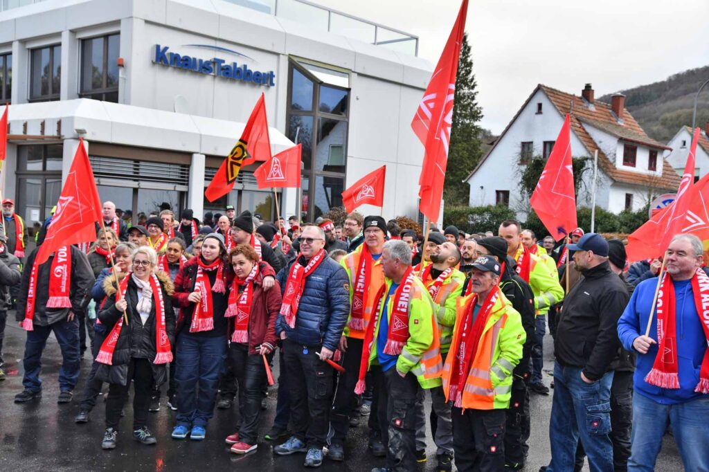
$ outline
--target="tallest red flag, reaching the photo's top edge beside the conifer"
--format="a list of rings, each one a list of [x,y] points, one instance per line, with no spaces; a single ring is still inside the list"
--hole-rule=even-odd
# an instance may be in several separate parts
[[[448,42],[431,76],[431,82],[411,121],[413,132],[425,147],[421,176],[418,179],[419,209],[432,221],[438,220],[443,198],[443,181],[453,122],[455,78],[467,11],[468,0],[463,0]]]

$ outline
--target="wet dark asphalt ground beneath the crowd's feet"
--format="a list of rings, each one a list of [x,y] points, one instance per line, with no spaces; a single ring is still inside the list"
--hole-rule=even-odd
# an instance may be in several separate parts
[[[84,379],[91,366],[89,354],[82,361],[82,376],[74,390],[72,403],[57,405],[59,386],[57,373],[61,354],[54,337],[48,339],[43,356],[43,398],[16,405],[13,398],[22,390],[21,358],[24,352],[24,332],[12,323],[14,313],[8,314],[5,345],[7,379],[0,382],[0,471],[298,471],[303,469],[303,454],[276,456],[272,443],[260,437],[259,447],[246,456],[230,454],[224,438],[235,431],[238,417],[235,409],[216,410],[208,425],[206,439],[202,442],[175,441],[169,437],[174,422],[174,412],[161,405],[160,411],[150,413],[148,427],[155,433],[157,444],[144,446],[133,441],[131,403],[125,406],[126,417],[121,422],[118,446],[113,451],[101,449],[104,433],[104,403],[99,403],[91,412],[91,421],[75,425],[74,415],[79,411]],[[552,367],[551,337],[545,337],[545,369]],[[278,378],[277,365],[274,377]],[[545,376],[547,386],[550,376]],[[276,410],[277,385],[269,391],[268,410],[262,416],[261,433],[272,425]],[[104,387],[104,392],[106,391]],[[553,392],[553,390],[552,390]],[[427,395],[427,399],[430,398]],[[430,408],[428,400],[427,408]],[[552,396],[532,395],[532,436],[525,471],[536,472],[549,461],[549,415]],[[428,417],[428,412],[427,412]],[[345,446],[347,460],[333,462],[325,459],[323,471],[369,471],[372,467],[384,466],[367,449],[366,417],[362,427],[350,430]],[[428,439],[429,460],[420,466],[421,471],[435,469],[435,445]],[[588,465],[584,468],[588,470]],[[663,451],[658,459],[657,471],[681,471],[679,453],[674,439],[666,437]]]

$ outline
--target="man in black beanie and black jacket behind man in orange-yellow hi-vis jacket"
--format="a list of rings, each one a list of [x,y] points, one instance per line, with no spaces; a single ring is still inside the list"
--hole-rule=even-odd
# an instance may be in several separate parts
[[[476,243],[475,250],[476,257],[490,255],[500,264],[505,263],[504,271],[500,274],[500,290],[520,313],[527,334],[527,341],[522,347],[522,359],[512,373],[512,395],[505,432],[505,465],[508,470],[518,471],[524,468],[529,450],[527,439],[530,437],[531,425],[527,382],[530,379],[530,356],[536,330],[534,293],[529,283],[517,275],[514,259],[507,255],[506,240],[499,236],[484,237]]]

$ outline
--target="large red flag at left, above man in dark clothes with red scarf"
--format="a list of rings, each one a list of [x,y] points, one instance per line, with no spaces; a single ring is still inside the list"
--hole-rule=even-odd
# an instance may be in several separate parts
[[[96,241],[96,223],[103,218],[101,207],[84,140],[79,138],[79,147],[57,201],[57,210],[35,262],[42,264],[62,246]]]

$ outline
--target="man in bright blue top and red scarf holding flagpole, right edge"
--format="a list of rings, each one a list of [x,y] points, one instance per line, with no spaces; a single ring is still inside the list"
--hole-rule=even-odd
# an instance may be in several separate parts
[[[684,470],[709,470],[709,305],[703,304],[709,277],[700,269],[702,254],[698,237],[676,235],[667,249],[650,335],[644,331],[657,278],[635,288],[618,321],[620,342],[637,353],[628,471],[654,470],[668,422]]]

